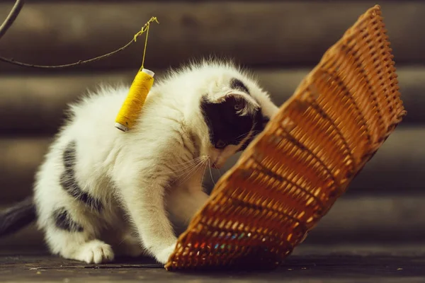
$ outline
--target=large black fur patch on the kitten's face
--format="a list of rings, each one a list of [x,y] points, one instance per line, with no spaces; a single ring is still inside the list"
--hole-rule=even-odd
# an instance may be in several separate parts
[[[263,127],[261,109],[256,110],[252,115],[240,116],[235,106],[241,103],[243,107],[247,102],[243,98],[237,99],[234,96],[229,96],[222,103],[210,103],[205,96],[201,100],[200,108],[210,129],[210,142],[217,149],[229,144],[239,144],[249,134],[253,125],[255,135],[261,132]],[[245,144],[239,151],[246,148]]]

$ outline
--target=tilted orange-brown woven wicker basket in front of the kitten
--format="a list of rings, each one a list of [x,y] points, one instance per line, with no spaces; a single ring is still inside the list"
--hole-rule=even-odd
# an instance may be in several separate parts
[[[370,8],[220,178],[167,270],[276,267],[406,114],[380,16]]]

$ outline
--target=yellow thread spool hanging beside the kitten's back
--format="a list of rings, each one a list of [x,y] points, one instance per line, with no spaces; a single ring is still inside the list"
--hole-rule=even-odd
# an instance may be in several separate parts
[[[143,104],[154,83],[154,72],[148,69],[139,71],[133,80],[127,98],[115,119],[115,127],[123,132],[132,128],[142,111]]]

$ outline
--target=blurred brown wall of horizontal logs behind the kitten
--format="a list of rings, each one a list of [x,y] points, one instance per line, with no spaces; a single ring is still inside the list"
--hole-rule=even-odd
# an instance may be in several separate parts
[[[0,19],[13,1],[0,0]],[[0,40],[0,55],[32,64],[67,64],[115,50],[151,16],[146,66],[158,77],[169,67],[209,54],[253,69],[276,103],[375,1],[27,1]],[[336,202],[307,241],[423,241],[425,239],[425,1],[380,1],[408,115]],[[62,111],[99,83],[130,83],[143,40],[128,50],[74,69],[36,70],[0,63],[0,204],[31,192],[35,168]],[[237,157],[236,157],[237,158]],[[232,166],[236,159],[229,162]],[[217,180],[220,174],[212,172]],[[207,185],[213,185],[212,180]],[[36,236],[34,236],[36,235]],[[38,236],[37,236],[38,235]],[[0,241],[25,238],[27,229]],[[30,237],[30,239],[28,238]],[[20,244],[21,245],[21,244]]]

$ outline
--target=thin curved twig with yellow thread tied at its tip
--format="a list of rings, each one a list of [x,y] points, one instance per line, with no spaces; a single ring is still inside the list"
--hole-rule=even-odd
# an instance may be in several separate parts
[[[149,24],[152,23],[152,22],[154,22],[154,21],[157,22],[157,23],[159,23],[156,17],[150,18],[150,20],[147,21],[147,23],[145,23],[145,25],[143,25],[142,29],[138,33],[136,33],[136,35],[132,38],[132,40],[130,40],[130,42],[128,42],[123,47],[120,47],[118,50],[115,50],[113,52],[109,52],[107,54],[103,54],[101,56],[94,57],[94,58],[91,58],[91,59],[88,59],[88,60],[80,60],[79,62],[75,62],[75,63],[71,63],[71,64],[55,65],[55,66],[22,63],[22,62],[15,61],[14,59],[8,59],[8,58],[5,58],[5,57],[0,57],[0,61],[6,62],[6,63],[10,63],[10,64],[14,64],[14,65],[18,65],[18,66],[21,66],[21,67],[41,68],[41,69],[67,68],[67,67],[78,66],[78,65],[81,65],[81,64],[96,62],[98,60],[111,57],[113,54],[117,54],[118,52],[121,52],[121,51],[125,50],[125,48],[129,47],[130,45],[132,45],[133,42],[136,42],[137,37],[139,37],[140,35],[142,35],[142,33],[145,33],[145,31],[147,30],[147,27],[149,26]]]

